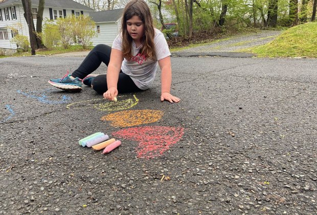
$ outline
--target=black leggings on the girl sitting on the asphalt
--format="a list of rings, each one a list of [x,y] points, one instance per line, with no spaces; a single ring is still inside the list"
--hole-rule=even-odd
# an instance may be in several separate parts
[[[106,66],[109,65],[111,47],[99,44],[89,52],[84,61],[81,63],[79,68],[72,73],[74,78],[78,77],[83,79],[90,73],[93,73],[104,62]],[[107,87],[107,75],[98,75],[92,81],[93,89],[97,93],[103,94],[108,90]],[[121,70],[119,73],[119,80],[117,89],[119,93],[130,93],[135,91],[141,91],[140,88],[135,85],[130,76],[124,74]]]

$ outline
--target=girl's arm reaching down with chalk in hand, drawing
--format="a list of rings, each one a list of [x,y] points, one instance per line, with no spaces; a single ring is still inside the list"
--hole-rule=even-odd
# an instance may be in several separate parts
[[[105,99],[114,100],[118,95],[118,79],[123,61],[122,51],[111,49],[110,61],[107,70],[107,87],[108,90],[103,94]]]

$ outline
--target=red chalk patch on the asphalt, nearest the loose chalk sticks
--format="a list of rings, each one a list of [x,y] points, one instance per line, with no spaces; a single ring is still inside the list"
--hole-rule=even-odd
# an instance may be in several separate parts
[[[155,158],[162,155],[184,135],[183,127],[146,126],[131,127],[112,133],[112,136],[138,141],[139,158]]]

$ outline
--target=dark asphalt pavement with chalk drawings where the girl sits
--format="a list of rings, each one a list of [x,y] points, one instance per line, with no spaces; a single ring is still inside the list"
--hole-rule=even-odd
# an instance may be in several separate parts
[[[83,59],[0,59],[0,214],[316,214],[317,59],[172,57],[179,103],[48,84]]]

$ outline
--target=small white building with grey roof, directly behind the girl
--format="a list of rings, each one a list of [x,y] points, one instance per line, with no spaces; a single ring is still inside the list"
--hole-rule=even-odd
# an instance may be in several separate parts
[[[112,45],[121,29],[123,9],[90,12],[89,15],[96,23],[97,37],[92,39],[93,46],[98,44]]]

